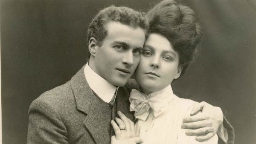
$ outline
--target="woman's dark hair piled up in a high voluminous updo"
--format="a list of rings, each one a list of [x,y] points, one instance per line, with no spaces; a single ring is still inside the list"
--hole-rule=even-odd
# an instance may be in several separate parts
[[[178,52],[182,76],[195,57],[196,46],[202,37],[195,12],[173,0],[163,0],[148,12],[148,20],[148,34],[163,35]]]

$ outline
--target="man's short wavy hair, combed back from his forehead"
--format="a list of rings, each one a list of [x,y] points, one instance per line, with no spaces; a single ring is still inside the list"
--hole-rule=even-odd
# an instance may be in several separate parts
[[[145,30],[145,34],[149,27],[148,19],[144,12],[137,12],[124,6],[109,6],[99,11],[90,23],[87,31],[87,47],[91,37],[96,39],[96,45],[102,45],[102,41],[108,34],[105,25],[110,21],[120,22],[133,28],[140,27]],[[88,58],[90,58],[90,52],[88,52]]]

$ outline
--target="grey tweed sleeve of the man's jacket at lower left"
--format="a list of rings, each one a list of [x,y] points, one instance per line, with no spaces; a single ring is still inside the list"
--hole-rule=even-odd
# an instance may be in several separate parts
[[[68,144],[67,129],[56,109],[42,100],[29,108],[28,144]]]

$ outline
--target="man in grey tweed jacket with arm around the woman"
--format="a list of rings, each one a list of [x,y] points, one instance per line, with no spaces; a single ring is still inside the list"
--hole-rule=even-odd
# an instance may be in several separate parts
[[[143,13],[114,6],[101,10],[88,29],[89,63],[66,84],[44,92],[32,102],[28,143],[110,143],[113,135],[110,122],[116,112],[121,111],[127,118],[134,119],[129,111],[130,85],[125,84],[140,61],[147,29],[148,22]],[[221,113],[207,104],[195,107],[195,113],[202,107],[213,114]],[[208,120],[215,120],[214,116]],[[193,121],[198,122],[198,117],[187,118],[189,123],[184,127],[201,127],[202,123]],[[206,127],[188,134],[215,133],[220,123],[222,113],[209,123],[215,124],[209,126],[215,128],[212,131]]]

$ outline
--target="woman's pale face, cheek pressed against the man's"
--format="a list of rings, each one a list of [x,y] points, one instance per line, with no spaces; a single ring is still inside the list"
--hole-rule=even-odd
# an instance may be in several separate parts
[[[166,37],[152,33],[145,42],[135,78],[146,94],[161,90],[180,76],[179,55]]]

